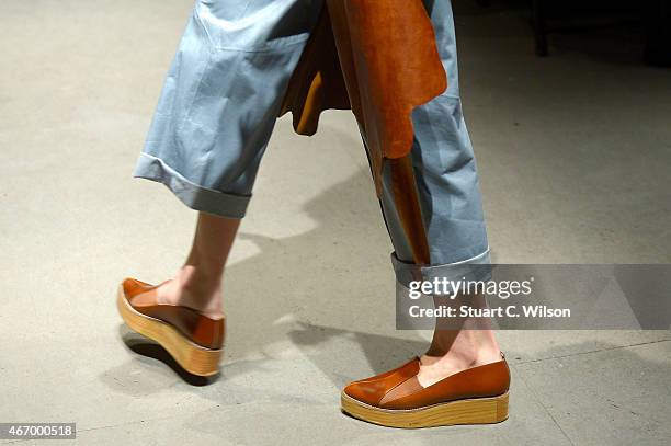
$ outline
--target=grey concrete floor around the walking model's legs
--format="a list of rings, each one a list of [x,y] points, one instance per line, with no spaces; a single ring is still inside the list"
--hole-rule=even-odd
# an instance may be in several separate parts
[[[671,71],[607,30],[556,35],[538,59],[519,12],[459,3],[494,261],[669,263]],[[344,384],[427,342],[394,329],[390,244],[346,112],[312,138],[277,125],[227,273],[217,381],[184,379],[126,330],[118,281],[171,275],[194,227],[130,178],[190,8],[0,2],[0,422],[73,421],[94,445],[671,442],[668,331],[501,332],[499,425],[398,431],[339,412]]]

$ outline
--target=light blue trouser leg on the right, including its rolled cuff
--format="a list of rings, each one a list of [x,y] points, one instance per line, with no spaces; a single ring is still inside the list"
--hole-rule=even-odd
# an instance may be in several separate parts
[[[448,88],[412,113],[414,141],[406,160],[387,160],[380,204],[394,244],[393,262],[401,285],[409,281],[446,277],[486,279],[490,263],[478,173],[462,112],[452,9],[447,1],[425,1],[434,26]],[[398,187],[399,165],[410,186]],[[401,169],[403,170],[403,169]],[[409,233],[407,210],[414,204],[421,228]],[[417,226],[417,224],[413,224]],[[425,238],[428,261],[417,262],[414,239]],[[421,251],[420,251],[421,252]],[[420,255],[421,259],[421,255]]]

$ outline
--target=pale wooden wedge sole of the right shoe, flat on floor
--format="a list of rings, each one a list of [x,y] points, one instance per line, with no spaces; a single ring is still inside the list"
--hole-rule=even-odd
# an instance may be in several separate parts
[[[411,410],[375,408],[342,392],[341,404],[343,412],[356,419],[389,427],[489,424],[508,419],[508,392],[492,398],[458,400]]]

